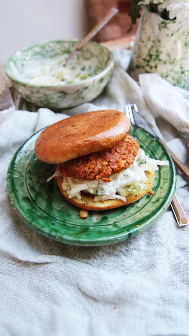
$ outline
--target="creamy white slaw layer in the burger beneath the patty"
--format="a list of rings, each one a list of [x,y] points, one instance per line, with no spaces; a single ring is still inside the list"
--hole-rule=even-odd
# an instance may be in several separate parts
[[[138,194],[146,190],[145,182],[147,181],[147,177],[145,171],[158,170],[158,165],[168,166],[169,162],[151,159],[145,155],[142,149],[139,149],[138,155],[127,169],[110,176],[111,182],[97,179],[79,180],[64,176],[62,188],[67,192],[69,198],[76,197],[78,200],[81,199],[81,191],[85,191],[96,195],[95,201],[121,199],[123,202],[126,202],[128,194]],[[60,176],[60,172],[52,176]]]

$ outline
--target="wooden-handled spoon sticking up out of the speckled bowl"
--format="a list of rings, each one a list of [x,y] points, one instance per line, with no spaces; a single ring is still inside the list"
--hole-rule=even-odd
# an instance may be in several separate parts
[[[68,58],[64,62],[64,66],[67,64],[67,62],[75,56],[81,48],[83,48],[106,24],[107,22],[118,12],[118,9],[115,7],[112,7],[106,16],[100,20],[100,22],[92,28],[92,30],[84,37],[84,39],[79,42],[79,44],[75,47],[75,50],[68,56]]]

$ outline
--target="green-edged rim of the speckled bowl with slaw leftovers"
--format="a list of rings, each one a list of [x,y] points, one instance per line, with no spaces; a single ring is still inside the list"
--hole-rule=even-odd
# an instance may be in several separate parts
[[[36,87],[36,88],[41,88],[41,89],[44,89],[44,88],[47,88],[47,89],[57,89],[57,88],[61,88],[63,89],[64,87],[70,87],[70,86],[74,86],[74,85],[81,85],[83,83],[88,83],[90,82],[91,80],[97,80],[99,77],[103,76],[104,73],[107,73],[109,70],[113,69],[114,67],[114,57],[113,57],[113,54],[112,52],[106,48],[105,46],[97,43],[97,42],[94,42],[94,41],[89,41],[88,43],[90,44],[94,44],[94,45],[97,45],[98,47],[102,48],[102,49],[106,49],[109,54],[110,54],[110,61],[109,61],[109,64],[108,66],[102,70],[100,73],[98,73],[97,75],[95,76],[92,76],[90,78],[87,78],[87,79],[84,79],[84,80],[81,80],[80,82],[77,82],[77,83],[70,83],[70,84],[60,84],[60,85],[40,85],[40,84],[30,84],[28,82],[23,82],[23,81],[20,81],[18,79],[16,79],[15,77],[12,77],[9,73],[9,65],[10,65],[10,62],[12,61],[12,58],[13,56],[18,52],[18,51],[25,51],[25,50],[28,50],[28,49],[32,49],[34,47],[37,47],[37,46],[40,46],[42,44],[47,44],[47,43],[51,43],[51,42],[55,42],[55,43],[60,43],[60,42],[81,42],[82,40],[81,39],[68,39],[68,40],[61,40],[61,39],[58,39],[58,40],[50,40],[50,41],[44,41],[44,42],[41,42],[41,43],[35,43],[35,44],[32,44],[32,45],[29,45],[27,47],[24,47],[22,49],[19,49],[17,51],[15,51],[6,61],[5,63],[5,73],[6,75],[15,83],[18,83],[18,84],[22,84],[24,86],[28,86],[28,87]]]

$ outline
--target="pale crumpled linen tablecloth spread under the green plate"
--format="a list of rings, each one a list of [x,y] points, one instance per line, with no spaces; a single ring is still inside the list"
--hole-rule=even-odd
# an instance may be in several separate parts
[[[33,133],[75,113],[124,111],[126,101],[137,103],[187,165],[187,142],[148,108],[141,88],[119,64],[92,103],[66,115],[15,111],[0,124],[0,335],[189,336],[189,226],[179,228],[171,209],[125,242],[74,247],[29,229],[7,194],[8,164]],[[177,196],[189,217],[189,187],[180,173]]]

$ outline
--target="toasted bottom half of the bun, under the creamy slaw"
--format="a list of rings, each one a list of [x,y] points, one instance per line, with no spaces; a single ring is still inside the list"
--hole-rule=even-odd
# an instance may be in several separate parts
[[[147,177],[147,181],[145,182],[146,184],[146,190],[144,190],[143,192],[141,192],[140,194],[129,194],[126,197],[126,202],[123,202],[122,200],[104,200],[104,201],[95,201],[95,195],[92,194],[88,194],[88,193],[84,193],[81,192],[81,199],[78,200],[76,197],[72,197],[69,198],[69,195],[67,194],[66,191],[63,190],[62,188],[62,183],[63,183],[63,176],[56,176],[56,183],[58,184],[58,187],[62,193],[62,195],[65,197],[65,199],[67,201],[69,201],[70,203],[74,204],[76,207],[79,207],[81,209],[86,209],[86,210],[94,210],[94,211],[99,211],[99,210],[108,210],[108,209],[114,209],[114,208],[118,208],[118,207],[122,207],[124,205],[130,204],[130,203],[134,203],[137,200],[139,200],[141,197],[143,197],[144,195],[146,195],[152,184],[153,184],[153,180],[154,180],[154,172],[149,172],[149,171],[145,171],[146,177]],[[107,182],[108,183],[108,182]]]

